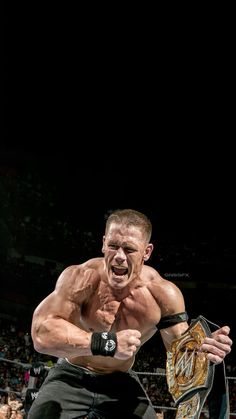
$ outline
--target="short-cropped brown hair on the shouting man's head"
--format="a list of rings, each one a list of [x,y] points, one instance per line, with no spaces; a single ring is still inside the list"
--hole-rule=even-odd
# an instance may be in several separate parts
[[[111,223],[139,227],[143,231],[147,242],[151,239],[152,223],[142,212],[133,209],[118,209],[113,211],[107,218],[105,234],[107,234]]]

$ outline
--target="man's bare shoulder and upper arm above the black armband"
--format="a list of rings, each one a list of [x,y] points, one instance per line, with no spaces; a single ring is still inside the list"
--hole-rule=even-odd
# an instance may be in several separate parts
[[[145,268],[147,288],[161,308],[162,316],[184,311],[184,297],[177,285],[163,278],[154,268]]]

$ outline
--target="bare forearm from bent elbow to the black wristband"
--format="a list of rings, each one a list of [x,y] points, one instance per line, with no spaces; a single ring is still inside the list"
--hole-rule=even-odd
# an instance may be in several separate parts
[[[56,357],[92,355],[91,333],[62,318],[45,319],[33,324],[32,339],[37,352]]]

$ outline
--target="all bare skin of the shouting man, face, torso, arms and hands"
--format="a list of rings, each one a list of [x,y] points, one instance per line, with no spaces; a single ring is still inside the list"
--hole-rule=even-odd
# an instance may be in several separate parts
[[[153,245],[136,226],[112,223],[103,238],[104,257],[66,268],[55,290],[36,308],[32,338],[38,352],[110,373],[127,371],[139,347],[154,335],[160,318],[185,311],[181,291],[150,266]],[[183,322],[161,330],[167,350],[187,328]],[[117,334],[114,357],[93,356],[92,332]],[[229,328],[207,338],[200,350],[219,363],[230,352]]]

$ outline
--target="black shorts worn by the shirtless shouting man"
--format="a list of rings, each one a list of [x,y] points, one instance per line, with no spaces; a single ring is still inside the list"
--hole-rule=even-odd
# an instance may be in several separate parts
[[[97,374],[60,358],[49,371],[28,419],[156,419],[137,374]]]

